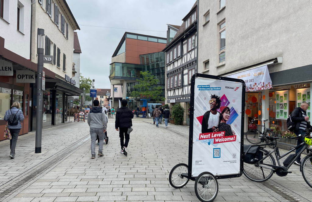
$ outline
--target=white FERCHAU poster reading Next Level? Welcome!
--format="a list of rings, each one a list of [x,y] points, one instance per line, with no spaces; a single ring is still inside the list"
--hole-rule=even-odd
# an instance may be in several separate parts
[[[243,92],[242,83],[196,77],[192,176],[240,173]]]

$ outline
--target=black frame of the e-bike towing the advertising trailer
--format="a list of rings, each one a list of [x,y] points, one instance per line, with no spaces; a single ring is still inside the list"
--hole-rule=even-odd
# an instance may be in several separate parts
[[[261,145],[261,146],[266,146],[266,145],[271,145],[271,144],[264,144],[264,145]],[[246,153],[250,150],[251,147],[254,147],[254,146],[259,146],[259,145],[250,145],[250,147],[248,148],[248,150],[246,151]],[[263,161],[264,159],[266,159],[270,154],[272,154],[273,152],[275,153],[275,157],[276,157],[276,160],[277,160],[277,164],[278,166],[281,166],[280,165],[280,159],[282,159],[283,157],[285,157],[286,155],[290,154],[292,151],[300,148],[301,146],[302,149],[298,152],[298,154],[295,156],[295,158],[289,163],[289,165],[286,167],[287,170],[290,168],[290,166],[295,162],[295,160],[297,160],[297,158],[299,157],[299,155],[301,155],[305,149],[309,149],[308,145],[305,143],[305,142],[302,142],[300,145],[294,147],[293,149],[291,149],[290,151],[288,151],[287,153],[285,153],[284,155],[281,155],[280,157],[278,157],[277,153],[276,153],[276,147],[274,146],[274,150],[271,151],[268,155],[266,155],[265,157],[263,157],[261,160],[259,160],[258,162],[261,162]],[[311,154],[310,154],[311,155]],[[303,162],[303,161],[302,161]],[[274,165],[269,165],[269,164],[261,164],[261,167],[263,168],[266,168],[266,169],[270,169],[270,170],[273,170],[275,171],[276,169],[273,167]],[[272,166],[272,168],[270,167],[266,167],[266,166],[263,166],[263,165],[267,165],[267,166]],[[301,170],[301,166],[300,166],[300,170]]]

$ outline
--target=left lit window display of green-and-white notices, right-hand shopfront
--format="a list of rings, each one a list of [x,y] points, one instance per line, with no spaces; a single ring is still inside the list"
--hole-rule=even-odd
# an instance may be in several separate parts
[[[287,120],[289,112],[289,90],[275,91],[276,113],[275,119]]]

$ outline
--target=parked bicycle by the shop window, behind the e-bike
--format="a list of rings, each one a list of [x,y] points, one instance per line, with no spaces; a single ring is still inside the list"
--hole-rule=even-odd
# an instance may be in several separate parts
[[[255,117],[253,117],[253,119],[250,121],[249,124],[249,128],[250,130],[246,132],[246,140],[248,142],[250,142],[251,144],[257,145],[260,144],[261,142],[266,142],[266,144],[269,144],[268,139],[266,139],[265,137],[268,136],[272,136],[272,137],[276,137],[276,135],[273,133],[273,129],[269,129],[266,128],[266,126],[264,125],[258,125],[258,124],[254,124],[256,121]],[[269,121],[268,119],[263,119],[263,122]],[[263,126],[263,132],[261,133],[258,129],[257,126]],[[274,142],[274,145],[276,146],[276,139],[272,140]],[[269,144],[269,147],[271,149],[273,149],[273,145]]]

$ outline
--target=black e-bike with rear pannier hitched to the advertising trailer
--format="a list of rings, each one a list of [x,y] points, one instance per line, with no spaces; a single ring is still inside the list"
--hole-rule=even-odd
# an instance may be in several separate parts
[[[291,171],[289,171],[288,169],[290,168],[290,166],[295,162],[295,160],[298,158],[299,155],[301,155],[305,150],[307,150],[308,155],[306,155],[303,160],[301,161],[301,165],[300,165],[300,171],[302,173],[303,178],[305,179],[305,182],[312,188],[312,149],[310,149],[310,145],[312,145],[312,137],[310,137],[310,133],[312,132],[312,129],[306,129],[305,130],[305,135],[304,136],[295,136],[292,137],[291,139],[295,139],[298,137],[304,137],[305,141],[303,143],[301,143],[300,145],[294,147],[292,150],[288,151],[287,153],[285,153],[284,155],[280,155],[279,149],[278,147],[276,147],[273,142],[271,142],[270,144],[273,146],[273,151],[267,151],[265,150],[263,146],[266,145],[270,145],[270,144],[264,144],[261,146],[258,145],[246,145],[245,148],[248,147],[248,149],[246,150],[245,154],[250,154],[248,153],[248,151],[252,148],[252,147],[259,147],[259,152],[257,157],[259,156],[264,156],[263,158],[260,157],[260,160],[254,160],[253,163],[246,163],[244,160],[244,169],[243,169],[243,173],[244,175],[252,181],[255,182],[264,182],[268,179],[271,178],[271,176],[273,175],[273,173],[276,173],[276,175],[280,176],[280,177],[284,177],[286,176],[288,173],[292,173]],[[309,136],[309,137],[308,137]],[[266,136],[266,139],[269,140],[276,140],[279,139],[279,137],[273,137],[273,136]],[[300,148],[300,151],[298,152],[298,154],[291,154],[289,155],[286,160],[283,162],[284,166],[280,165],[280,159],[285,157],[286,155],[290,154],[292,151]],[[275,159],[273,158],[273,156],[271,155],[272,153],[275,153],[275,157],[277,160],[277,164],[275,164]]]

